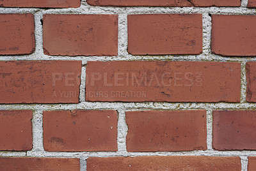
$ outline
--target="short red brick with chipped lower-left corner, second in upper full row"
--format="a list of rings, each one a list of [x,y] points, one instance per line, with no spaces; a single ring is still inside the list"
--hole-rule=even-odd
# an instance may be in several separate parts
[[[118,15],[44,15],[44,54],[117,56]]]

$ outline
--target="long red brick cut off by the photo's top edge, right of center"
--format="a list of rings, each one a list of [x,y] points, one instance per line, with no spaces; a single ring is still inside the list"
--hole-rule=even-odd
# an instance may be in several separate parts
[[[87,0],[95,6],[241,6],[241,0]]]

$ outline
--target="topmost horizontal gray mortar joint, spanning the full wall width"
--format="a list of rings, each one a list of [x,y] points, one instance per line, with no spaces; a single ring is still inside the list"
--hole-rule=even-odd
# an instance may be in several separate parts
[[[256,14],[253,8],[246,7],[118,7],[81,6],[79,8],[3,8],[0,13],[60,13],[60,14],[151,14],[151,13],[211,13],[211,14]]]

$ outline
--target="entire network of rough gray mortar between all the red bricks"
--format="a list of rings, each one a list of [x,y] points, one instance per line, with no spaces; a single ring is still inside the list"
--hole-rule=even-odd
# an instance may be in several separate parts
[[[67,60],[83,61],[80,103],[78,104],[20,104],[0,105],[0,110],[33,110],[33,149],[28,152],[1,151],[1,157],[60,157],[80,158],[81,170],[86,170],[88,157],[112,157],[112,156],[239,156],[242,162],[242,170],[247,170],[247,156],[256,156],[256,151],[214,151],[212,149],[212,110],[256,110],[255,103],[246,102],[246,71],[245,64],[248,61],[256,61],[255,57],[222,57],[211,54],[211,15],[256,15],[255,9],[248,9],[247,0],[242,0],[241,7],[209,7],[209,8],[173,8],[173,7],[99,7],[89,6],[85,0],[80,8],[68,9],[39,9],[39,8],[0,8],[0,13],[33,13],[35,15],[35,52],[27,56],[0,56],[0,61],[19,60]],[[43,51],[42,25],[40,20],[46,13],[60,14],[118,14],[118,56],[46,56]],[[127,15],[152,13],[202,13],[203,14],[203,53],[198,56],[132,56],[127,52]],[[86,102],[84,96],[86,63],[88,61],[219,61],[241,63],[241,103],[101,103]],[[43,146],[43,122],[44,110],[117,110],[118,111],[118,151],[117,152],[47,152]],[[127,152],[125,139],[127,124],[125,123],[125,111],[134,110],[207,110],[207,151],[180,151],[180,152]]]

